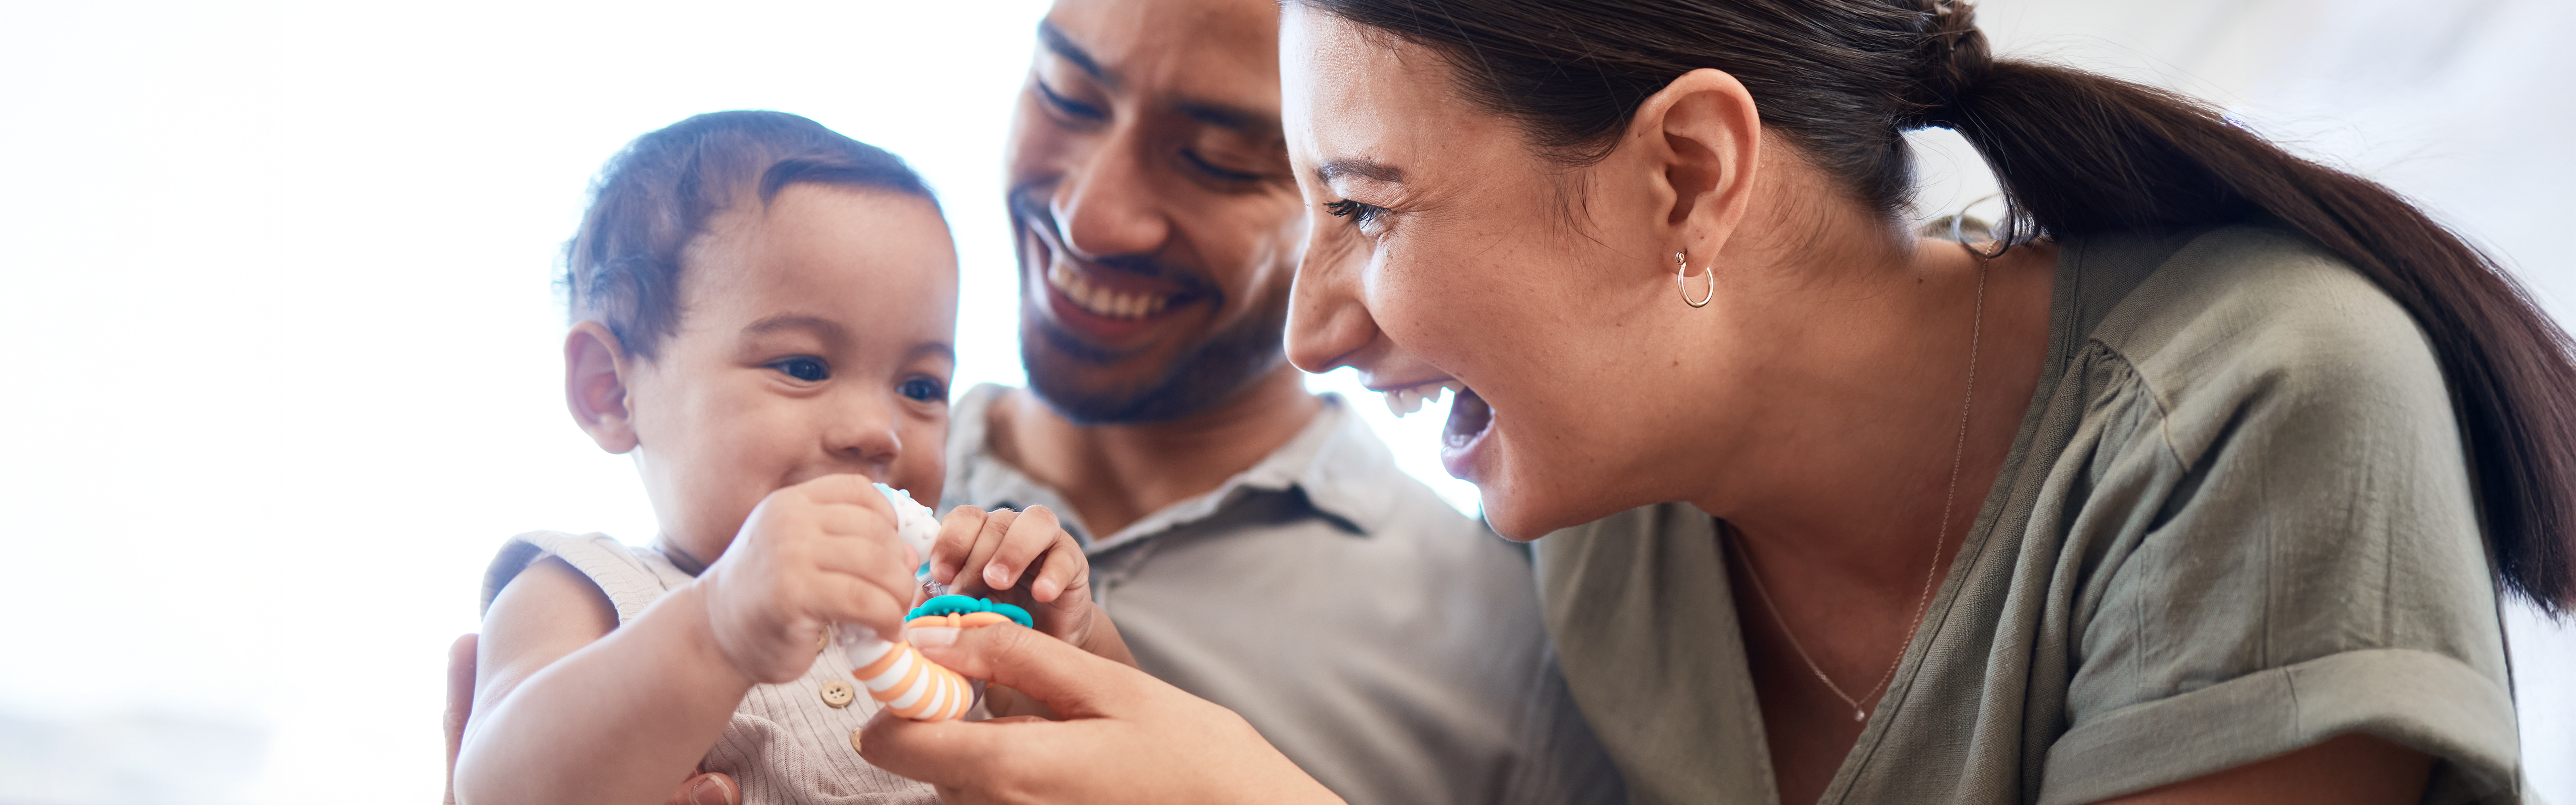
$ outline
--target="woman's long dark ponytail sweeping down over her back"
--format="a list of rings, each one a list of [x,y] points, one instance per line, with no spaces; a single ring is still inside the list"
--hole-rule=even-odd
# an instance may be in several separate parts
[[[2352,263],[2432,341],[2488,562],[2545,611],[2576,606],[2571,343],[2488,255],[2372,181],[2300,160],[2195,101],[2081,70],[1994,62],[1929,124],[1958,129],[1994,165],[2012,230],[2264,222]]]

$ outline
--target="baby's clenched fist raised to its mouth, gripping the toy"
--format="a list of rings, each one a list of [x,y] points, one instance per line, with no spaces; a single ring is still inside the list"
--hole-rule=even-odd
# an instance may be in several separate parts
[[[781,684],[814,668],[835,622],[902,630],[917,562],[868,477],[824,475],[762,498],[698,586],[734,671]]]

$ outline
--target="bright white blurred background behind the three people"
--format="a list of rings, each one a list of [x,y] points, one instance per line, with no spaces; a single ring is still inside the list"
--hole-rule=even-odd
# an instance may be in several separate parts
[[[2007,52],[2218,98],[2424,199],[2576,312],[2571,5],[1986,8]],[[647,129],[783,108],[909,157],[956,222],[961,382],[1018,382],[999,147],[1041,10],[0,5],[0,802],[435,797],[489,550],[652,529],[562,413],[549,289],[585,181]],[[1927,206],[1981,194],[1924,144]],[[1440,477],[1440,410],[1370,415]],[[2568,802],[2576,637],[2512,617],[2532,779]]]

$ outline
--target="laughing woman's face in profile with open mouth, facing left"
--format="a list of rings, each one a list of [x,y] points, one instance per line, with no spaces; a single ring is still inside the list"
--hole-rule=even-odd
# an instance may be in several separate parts
[[[1708,328],[1682,315],[1716,310],[1680,302],[1685,245],[1631,181],[1643,165],[1538,157],[1430,49],[1293,3],[1280,26],[1288,157],[1314,217],[1291,361],[1355,366],[1381,392],[1466,387],[1443,462],[1507,537],[1687,498],[1692,444],[1710,441],[1677,428],[1728,400],[1674,392],[1710,361]]]

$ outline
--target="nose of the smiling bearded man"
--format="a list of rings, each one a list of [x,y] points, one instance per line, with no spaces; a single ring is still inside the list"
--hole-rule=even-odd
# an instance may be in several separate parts
[[[1172,237],[1151,165],[1136,155],[1136,134],[1121,132],[1087,155],[1074,157],[1051,199],[1059,237],[1082,258],[1146,255]]]

